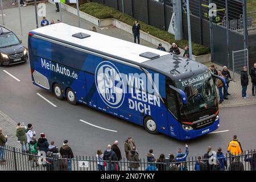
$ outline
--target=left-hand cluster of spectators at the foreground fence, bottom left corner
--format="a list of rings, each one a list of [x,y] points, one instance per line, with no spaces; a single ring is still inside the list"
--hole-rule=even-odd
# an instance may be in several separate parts
[[[21,145],[21,151],[23,154],[30,154],[28,155],[28,160],[31,160],[32,167],[39,166],[38,158],[40,158],[43,167],[46,167],[47,171],[52,171],[52,157],[53,154],[56,154],[57,158],[60,159],[60,163],[62,162],[61,168],[71,171],[71,159],[74,158],[74,155],[71,147],[69,147],[68,140],[64,140],[63,146],[59,150],[54,141],[51,141],[49,144],[44,133],[40,133],[37,140],[36,133],[32,129],[31,123],[27,126],[24,123],[18,123],[16,127],[16,137],[18,138],[18,143]],[[7,136],[3,136],[2,128],[0,128],[0,164],[5,164],[6,162],[4,159],[6,142]]]

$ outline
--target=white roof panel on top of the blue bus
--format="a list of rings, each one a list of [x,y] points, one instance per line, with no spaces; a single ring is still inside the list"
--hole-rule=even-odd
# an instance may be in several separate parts
[[[108,35],[70,26],[65,23],[55,23],[46,27],[37,28],[32,31],[51,36],[56,39],[65,40],[70,43],[79,44],[80,46],[92,48],[97,51],[105,52],[113,56],[122,57],[123,59],[128,59],[137,63],[143,63],[144,61],[149,60],[145,57],[139,56],[144,52],[152,52],[160,56],[168,55],[168,52],[159,51],[158,49],[127,42],[126,40],[121,40]],[[84,39],[79,39],[72,36],[73,34],[79,32],[83,32],[91,36]]]

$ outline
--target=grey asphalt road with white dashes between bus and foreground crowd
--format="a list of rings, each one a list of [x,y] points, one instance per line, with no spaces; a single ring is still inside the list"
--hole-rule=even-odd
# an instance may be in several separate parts
[[[37,93],[57,107],[43,100]],[[220,146],[226,151],[234,134],[238,136],[244,149],[255,148],[256,105],[221,108],[221,125],[217,131],[229,131],[181,142],[162,134],[148,134],[141,126],[90,107],[73,106],[67,101],[57,100],[52,93],[32,84],[29,63],[0,67],[0,110],[16,122],[32,123],[37,134],[44,132],[48,140],[55,140],[58,146],[61,146],[64,139],[68,139],[75,155],[94,156],[99,148],[105,150],[106,145],[112,144],[116,139],[119,140],[119,147],[124,155],[123,142],[130,136],[137,143],[142,158],[150,148],[154,149],[156,156],[162,153],[176,154],[177,148],[184,147],[185,143],[189,145],[190,156],[203,155],[207,146],[212,146],[214,150]],[[117,132],[87,125],[80,119]]]

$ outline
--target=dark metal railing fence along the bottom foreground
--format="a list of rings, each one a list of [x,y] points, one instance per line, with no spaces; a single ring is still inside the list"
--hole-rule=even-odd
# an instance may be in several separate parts
[[[256,151],[246,154],[232,156],[226,154],[217,158],[212,153],[209,159],[204,156],[188,157],[184,162],[175,162],[170,158],[161,162],[147,162],[147,159],[140,159],[138,162],[129,160],[97,160],[94,156],[76,156],[73,159],[61,158],[60,154],[53,154],[51,157],[31,155],[21,152],[15,147],[6,146],[3,148],[4,161],[0,162],[0,171],[255,171]],[[2,152],[2,150],[1,150]],[[200,159],[200,160],[199,160]],[[224,164],[226,161],[226,165]],[[157,168],[157,169],[156,169]]]

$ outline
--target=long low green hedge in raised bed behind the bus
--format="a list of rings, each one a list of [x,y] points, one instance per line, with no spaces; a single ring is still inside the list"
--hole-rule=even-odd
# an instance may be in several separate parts
[[[98,19],[114,18],[123,23],[129,24],[130,26],[133,26],[136,20],[130,15],[123,14],[120,11],[113,9],[112,7],[108,7],[99,3],[93,3],[93,2],[84,3],[83,5],[80,6],[80,10]],[[159,28],[150,26],[144,22],[140,22],[140,23],[141,23],[142,31],[148,32],[148,34],[155,36],[156,38],[162,39],[170,44],[175,42],[180,48],[184,48],[185,46],[188,45],[187,40],[175,40],[174,35],[170,34],[167,31],[160,30]],[[200,44],[197,44],[197,43],[192,43],[192,51],[193,51],[193,55],[195,56],[205,55],[210,52],[209,48],[205,46],[201,46]]]

